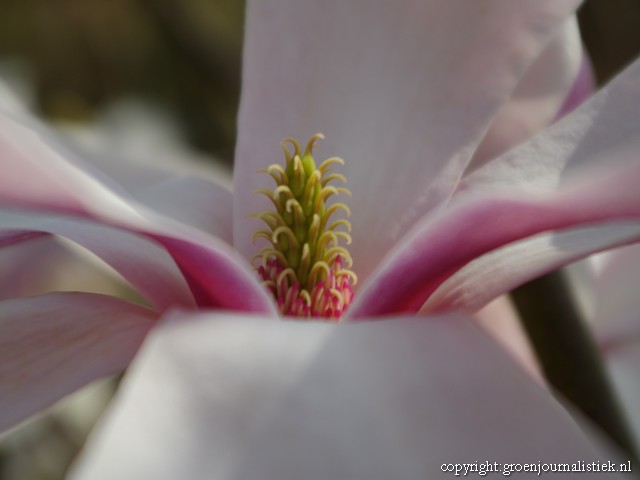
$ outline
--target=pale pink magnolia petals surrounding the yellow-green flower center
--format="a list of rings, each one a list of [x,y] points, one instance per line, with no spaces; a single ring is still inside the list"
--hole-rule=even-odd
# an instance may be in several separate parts
[[[640,64],[510,149],[584,93],[578,4],[249,2],[233,195],[194,178],[124,189],[3,114],[0,244],[64,236],[147,305],[1,302],[0,427],[125,367],[160,320],[78,478],[438,478],[464,462],[613,459],[466,315],[442,315],[640,240]],[[249,215],[269,206],[256,172],[282,138],[320,131],[353,194],[359,283],[340,320],[355,325],[279,321],[250,264]]]

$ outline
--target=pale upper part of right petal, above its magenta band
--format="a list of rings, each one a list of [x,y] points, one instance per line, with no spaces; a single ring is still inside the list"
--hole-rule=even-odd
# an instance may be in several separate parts
[[[639,85],[637,60],[573,113],[465,177],[453,198],[470,192],[553,193],[595,168],[606,175],[635,163]]]

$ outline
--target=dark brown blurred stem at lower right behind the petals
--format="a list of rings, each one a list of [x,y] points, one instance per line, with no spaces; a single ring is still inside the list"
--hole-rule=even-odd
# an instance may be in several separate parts
[[[564,273],[529,282],[514,290],[512,298],[549,383],[637,465],[628,422]]]

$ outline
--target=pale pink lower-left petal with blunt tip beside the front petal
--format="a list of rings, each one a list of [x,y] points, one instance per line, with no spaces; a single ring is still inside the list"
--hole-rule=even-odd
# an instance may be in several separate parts
[[[87,293],[0,302],[0,430],[122,370],[154,320],[138,305]]]

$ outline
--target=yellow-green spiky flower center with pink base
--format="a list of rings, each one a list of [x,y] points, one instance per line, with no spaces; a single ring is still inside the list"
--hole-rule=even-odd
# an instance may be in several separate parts
[[[252,214],[268,227],[255,232],[253,240],[269,242],[254,261],[259,262],[258,275],[283,315],[337,320],[353,300],[351,287],[357,277],[350,270],[351,255],[340,245],[351,243],[351,224],[346,219],[331,220],[337,210],[347,216],[351,212],[343,203],[327,206],[327,200],[351,192],[328,185],[333,180],[346,182],[331,169],[344,160],[331,157],[316,167],[312,150],[323,138],[321,133],[311,137],[304,152],[295,139],[285,138],[285,167],[276,164],[260,171],[270,175],[276,187],[256,193],[269,198],[275,211]]]

